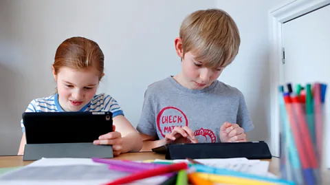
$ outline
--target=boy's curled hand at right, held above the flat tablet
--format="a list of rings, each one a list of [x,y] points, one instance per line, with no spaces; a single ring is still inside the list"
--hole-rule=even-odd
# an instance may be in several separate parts
[[[220,127],[221,142],[246,142],[244,129],[238,124],[225,122]]]

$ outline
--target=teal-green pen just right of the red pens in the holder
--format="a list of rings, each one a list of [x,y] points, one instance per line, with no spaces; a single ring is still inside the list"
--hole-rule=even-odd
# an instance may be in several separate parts
[[[313,95],[311,94],[311,84],[306,85],[306,118],[311,140],[316,144],[316,135],[314,127]]]

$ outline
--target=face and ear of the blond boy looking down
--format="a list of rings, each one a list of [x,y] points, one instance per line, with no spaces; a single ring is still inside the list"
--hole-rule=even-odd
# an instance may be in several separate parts
[[[186,52],[183,57],[181,45],[181,38],[175,39],[177,55],[182,58],[182,72],[179,82],[181,85],[188,89],[204,89],[219,78],[224,67],[217,69],[204,67],[203,62],[195,60],[195,56],[191,52]]]

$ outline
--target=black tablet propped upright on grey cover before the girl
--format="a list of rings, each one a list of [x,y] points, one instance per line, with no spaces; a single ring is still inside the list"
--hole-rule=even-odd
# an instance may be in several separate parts
[[[111,145],[94,145],[112,131],[111,112],[23,113],[26,144],[23,160],[42,157],[113,157]]]

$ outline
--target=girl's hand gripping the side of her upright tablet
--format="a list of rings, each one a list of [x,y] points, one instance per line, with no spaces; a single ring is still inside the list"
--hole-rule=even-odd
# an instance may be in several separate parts
[[[115,125],[112,126],[112,132],[100,135],[94,144],[112,144],[113,155],[120,155],[122,152],[122,134],[115,131]]]

